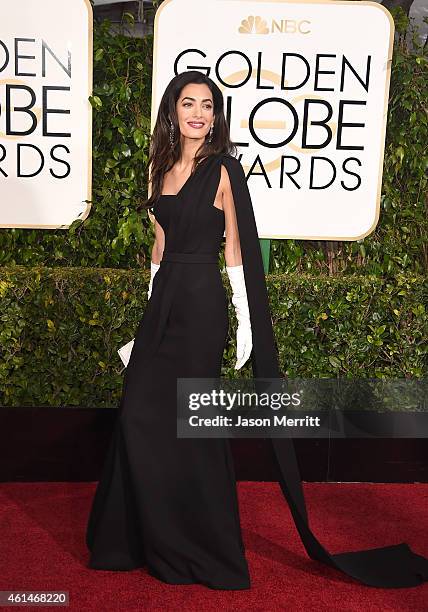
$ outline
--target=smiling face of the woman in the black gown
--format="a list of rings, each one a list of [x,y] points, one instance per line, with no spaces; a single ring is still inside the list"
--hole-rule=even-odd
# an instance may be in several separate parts
[[[178,96],[176,110],[182,139],[205,140],[214,125],[214,101],[208,85],[185,85]]]

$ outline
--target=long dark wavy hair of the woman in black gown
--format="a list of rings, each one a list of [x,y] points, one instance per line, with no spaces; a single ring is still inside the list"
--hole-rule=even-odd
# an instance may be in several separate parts
[[[145,200],[140,209],[152,208],[162,192],[164,174],[181,158],[181,138],[176,104],[183,87],[189,83],[205,83],[211,91],[214,103],[213,113],[215,115],[212,140],[205,142],[196,152],[192,173],[202,159],[209,155],[228,153],[236,155],[236,146],[230,140],[229,127],[224,116],[223,94],[220,88],[202,72],[198,70],[187,70],[175,76],[167,85],[159,105],[156,124],[150,142],[147,169],[150,168],[150,198]],[[174,126],[173,146],[169,140],[170,120]]]

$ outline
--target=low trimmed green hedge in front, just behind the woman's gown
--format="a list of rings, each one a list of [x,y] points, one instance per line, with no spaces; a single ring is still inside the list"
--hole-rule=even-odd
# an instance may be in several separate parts
[[[0,269],[0,404],[117,405],[116,351],[135,334],[148,280],[135,270]],[[267,284],[283,375],[426,376],[426,278],[270,275]],[[249,362],[234,370],[231,305],[229,314],[222,376],[249,377]]]

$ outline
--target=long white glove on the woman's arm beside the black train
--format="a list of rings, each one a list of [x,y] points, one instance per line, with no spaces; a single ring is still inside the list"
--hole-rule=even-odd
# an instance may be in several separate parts
[[[226,266],[226,272],[232,288],[232,304],[235,307],[236,318],[238,320],[235,370],[239,370],[249,358],[253,348],[244,266],[242,264],[240,266]]]

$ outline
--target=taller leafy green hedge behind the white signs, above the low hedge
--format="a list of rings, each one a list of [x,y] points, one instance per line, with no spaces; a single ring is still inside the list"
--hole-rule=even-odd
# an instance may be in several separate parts
[[[379,224],[358,242],[272,240],[270,272],[426,273],[428,58],[408,47],[409,20],[392,12],[397,36]],[[149,267],[152,226],[136,208],[147,195],[152,46],[150,36],[94,23],[91,213],[69,230],[0,230],[0,266]]]

